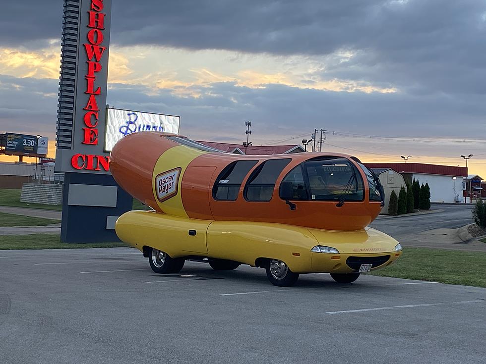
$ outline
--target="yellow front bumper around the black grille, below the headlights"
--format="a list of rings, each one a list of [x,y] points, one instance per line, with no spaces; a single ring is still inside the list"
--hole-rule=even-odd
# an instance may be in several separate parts
[[[371,264],[371,270],[383,268],[401,255],[401,251],[379,254],[311,253],[311,266],[314,273],[353,273],[358,272],[361,264]]]

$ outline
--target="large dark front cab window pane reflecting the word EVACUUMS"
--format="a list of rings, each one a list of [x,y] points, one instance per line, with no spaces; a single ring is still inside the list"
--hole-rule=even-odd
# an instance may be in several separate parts
[[[309,178],[310,199],[316,201],[363,201],[363,179],[353,163],[345,158],[304,162]]]

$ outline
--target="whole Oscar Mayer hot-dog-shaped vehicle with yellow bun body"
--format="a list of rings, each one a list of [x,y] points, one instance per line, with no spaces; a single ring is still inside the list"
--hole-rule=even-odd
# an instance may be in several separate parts
[[[116,232],[156,273],[197,260],[215,270],[262,267],[276,286],[293,285],[301,273],[351,283],[402,253],[395,239],[367,227],[383,188],[353,156],[241,156],[146,131],[115,145],[110,168],[153,209],[124,213]]]

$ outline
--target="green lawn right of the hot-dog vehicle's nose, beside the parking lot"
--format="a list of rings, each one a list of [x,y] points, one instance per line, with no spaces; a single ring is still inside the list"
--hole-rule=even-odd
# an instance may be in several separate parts
[[[486,287],[486,253],[405,248],[395,263],[368,274]]]

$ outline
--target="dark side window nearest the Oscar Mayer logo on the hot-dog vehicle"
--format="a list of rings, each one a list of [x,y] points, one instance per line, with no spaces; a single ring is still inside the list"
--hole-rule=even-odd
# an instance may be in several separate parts
[[[236,201],[244,177],[257,160],[239,160],[228,165],[219,174],[213,187],[213,198],[222,201]]]

